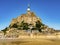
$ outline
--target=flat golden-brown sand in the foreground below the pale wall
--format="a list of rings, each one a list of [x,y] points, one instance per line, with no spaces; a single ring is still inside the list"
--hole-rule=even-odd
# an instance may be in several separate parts
[[[1,41],[0,40],[0,45],[60,45],[60,40],[54,40],[54,39],[39,39],[32,41],[22,41],[22,40]]]

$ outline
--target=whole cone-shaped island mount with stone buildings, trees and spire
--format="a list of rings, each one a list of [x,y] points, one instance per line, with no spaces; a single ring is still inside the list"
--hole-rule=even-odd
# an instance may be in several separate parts
[[[28,5],[26,13],[12,19],[9,27],[3,29],[2,32],[5,38],[20,38],[21,36],[53,34],[55,30],[43,24]]]

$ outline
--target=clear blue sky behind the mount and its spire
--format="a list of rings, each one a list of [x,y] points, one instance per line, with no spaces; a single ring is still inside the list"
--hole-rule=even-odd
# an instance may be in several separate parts
[[[0,30],[8,27],[13,18],[26,13],[28,3],[44,24],[60,29],[59,0],[0,0]]]

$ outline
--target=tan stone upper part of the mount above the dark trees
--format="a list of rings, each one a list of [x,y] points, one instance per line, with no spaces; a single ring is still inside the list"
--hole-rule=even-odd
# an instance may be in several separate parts
[[[26,14],[22,14],[21,16],[13,19],[10,25],[11,26],[13,24],[19,25],[22,21],[24,21],[24,23],[32,24],[33,26],[35,26],[37,20],[41,22],[41,19],[39,19],[33,12],[28,12]]]

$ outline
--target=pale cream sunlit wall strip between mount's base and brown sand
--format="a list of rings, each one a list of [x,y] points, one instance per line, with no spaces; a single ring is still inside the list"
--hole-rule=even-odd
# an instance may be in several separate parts
[[[60,35],[30,35],[30,36],[19,36],[19,38],[43,38],[43,39],[60,39]]]

